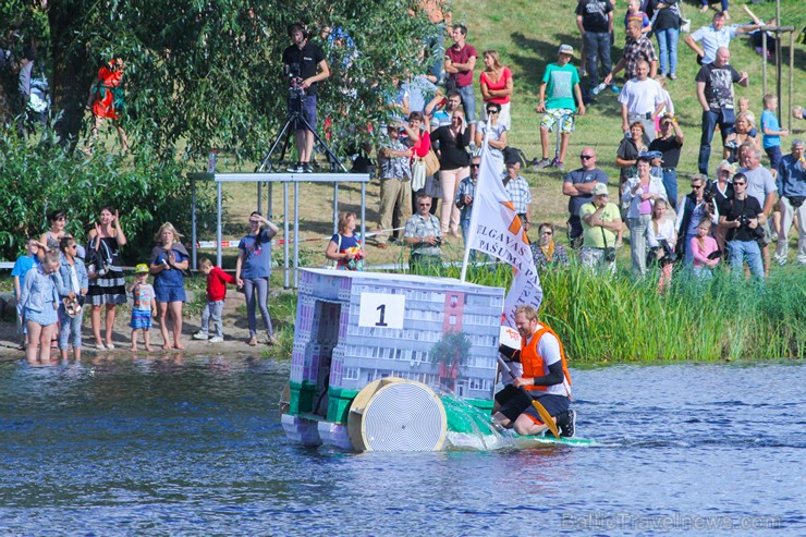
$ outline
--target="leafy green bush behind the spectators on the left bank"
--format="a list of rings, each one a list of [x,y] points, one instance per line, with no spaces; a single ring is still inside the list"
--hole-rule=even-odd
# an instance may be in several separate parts
[[[14,260],[26,237],[49,229],[47,213],[57,208],[66,210],[68,232],[80,243],[86,241],[101,207],[118,209],[129,239],[122,255],[130,264],[147,259],[164,221],[171,221],[186,242],[192,199],[185,164],[158,158],[148,147],[139,147],[134,159],[102,152],[76,159],[58,144],[52,130],[33,145],[13,129],[0,130],[0,190],[8,207],[0,211],[0,258]],[[215,224],[213,195],[211,188],[198,190],[199,227]]]

